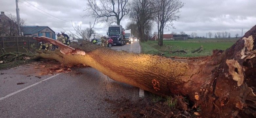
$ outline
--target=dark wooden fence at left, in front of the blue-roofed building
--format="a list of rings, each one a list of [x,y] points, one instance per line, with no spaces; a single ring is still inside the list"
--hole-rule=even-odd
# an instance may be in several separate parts
[[[34,44],[35,49],[39,49],[39,43],[33,37],[0,37],[0,48],[2,52],[26,52],[26,49],[33,51],[30,47]],[[25,49],[24,49],[25,48]],[[1,53],[2,53],[1,52]]]

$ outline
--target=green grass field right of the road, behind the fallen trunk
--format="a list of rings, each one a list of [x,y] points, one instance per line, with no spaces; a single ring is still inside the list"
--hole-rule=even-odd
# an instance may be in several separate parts
[[[179,56],[179,57],[198,57],[208,56],[212,54],[212,50],[221,49],[225,50],[230,48],[238,39],[192,39],[187,41],[163,41],[163,46],[158,46],[158,41],[148,41],[145,43],[140,42],[142,53],[145,54],[160,54],[164,53],[166,57]],[[192,53],[195,49],[200,48],[201,52]],[[187,53],[169,53],[169,51],[184,50]]]

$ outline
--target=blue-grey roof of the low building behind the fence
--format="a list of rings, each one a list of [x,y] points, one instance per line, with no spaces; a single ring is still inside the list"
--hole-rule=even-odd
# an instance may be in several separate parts
[[[46,28],[49,28],[49,27],[48,26],[22,26],[21,27],[24,35],[34,34],[36,32],[40,32],[41,30],[44,30]],[[52,30],[51,28],[49,28],[49,29]]]

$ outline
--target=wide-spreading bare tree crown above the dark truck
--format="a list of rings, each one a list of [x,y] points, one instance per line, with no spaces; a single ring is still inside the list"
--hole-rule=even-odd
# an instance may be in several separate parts
[[[98,18],[99,22],[114,22],[120,25],[122,18],[129,13],[128,0],[87,0],[89,16]]]

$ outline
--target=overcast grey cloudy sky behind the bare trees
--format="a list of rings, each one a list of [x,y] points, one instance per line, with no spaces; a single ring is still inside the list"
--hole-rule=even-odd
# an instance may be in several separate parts
[[[89,22],[94,22],[86,15],[87,0],[19,0],[20,18],[26,20],[26,26],[48,26],[53,31],[72,31],[74,26],[89,28]],[[131,1],[131,0],[129,0]],[[227,31],[231,37],[243,35],[256,25],[256,0],[181,0],[185,3],[180,12],[180,20],[174,22],[175,29],[166,29],[164,34],[174,32],[192,32],[206,37],[206,33]],[[0,11],[16,15],[15,0],[0,0]],[[125,28],[129,18],[122,19]],[[96,25],[96,32],[106,34],[103,24]],[[157,31],[156,25],[154,31]],[[208,37],[208,36],[207,36]],[[213,37],[213,36],[212,36]]]

